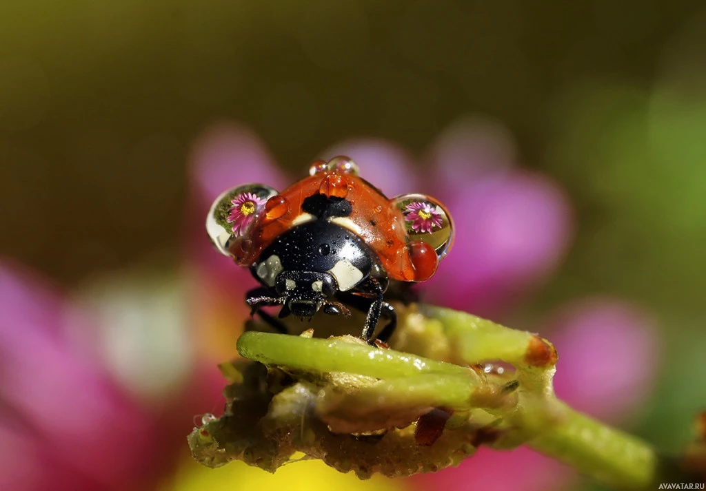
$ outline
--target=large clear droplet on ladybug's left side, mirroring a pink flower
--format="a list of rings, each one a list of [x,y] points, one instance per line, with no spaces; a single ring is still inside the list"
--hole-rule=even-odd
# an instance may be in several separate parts
[[[211,205],[206,217],[206,231],[220,253],[233,255],[248,241],[248,233],[265,210],[265,202],[277,190],[264,184],[245,184],[224,191]]]

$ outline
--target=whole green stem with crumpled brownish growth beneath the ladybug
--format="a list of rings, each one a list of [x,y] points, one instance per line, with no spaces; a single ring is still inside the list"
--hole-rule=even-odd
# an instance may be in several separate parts
[[[658,482],[649,444],[556,399],[558,356],[549,341],[415,306],[402,310],[390,344],[394,350],[352,337],[246,332],[240,355],[268,370],[253,375],[247,362],[229,365],[237,375],[226,415],[192,433],[194,456],[210,466],[241,459],[274,471],[304,451],[365,478],[456,465],[480,444],[527,444],[614,487]],[[512,366],[488,364],[498,360]]]

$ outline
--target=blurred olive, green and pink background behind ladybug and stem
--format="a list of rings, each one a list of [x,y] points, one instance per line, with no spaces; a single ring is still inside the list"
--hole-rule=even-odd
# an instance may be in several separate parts
[[[560,396],[678,451],[706,406],[705,48],[695,0],[4,0],[0,489],[598,489],[525,450],[367,482],[190,461],[251,281],[205,210],[338,153],[455,215],[429,301],[549,337]]]

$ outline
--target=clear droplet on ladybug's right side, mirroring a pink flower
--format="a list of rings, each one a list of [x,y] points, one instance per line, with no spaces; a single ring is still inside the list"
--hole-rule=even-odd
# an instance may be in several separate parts
[[[402,211],[409,241],[424,241],[443,259],[453,245],[453,221],[446,208],[428,195],[407,194],[390,200]]]

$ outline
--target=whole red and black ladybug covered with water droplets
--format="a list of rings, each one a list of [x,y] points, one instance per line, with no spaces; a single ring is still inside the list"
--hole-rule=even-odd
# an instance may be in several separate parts
[[[388,199],[358,176],[349,157],[311,164],[309,176],[281,193],[246,184],[222,193],[206,230],[216,248],[249,267],[261,286],[247,293],[253,314],[280,332],[278,317],[319,310],[366,313],[361,338],[387,341],[397,325],[385,301],[391,284],[426,281],[453,244],[453,223],[438,200],[407,194]],[[391,289],[390,289],[391,290]],[[378,320],[388,324],[375,336]]]

